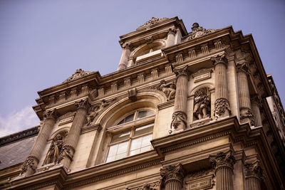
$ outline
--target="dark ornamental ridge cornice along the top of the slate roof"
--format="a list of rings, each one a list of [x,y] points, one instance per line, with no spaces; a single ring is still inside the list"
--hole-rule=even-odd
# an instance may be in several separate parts
[[[5,137],[1,137],[0,138],[0,147],[4,146],[6,144],[9,144],[11,142],[18,141],[20,139],[26,139],[28,137],[36,136],[38,134],[38,127],[39,127],[39,125],[36,127],[31,127],[28,130],[24,130],[21,132],[10,134],[10,135],[5,136]]]

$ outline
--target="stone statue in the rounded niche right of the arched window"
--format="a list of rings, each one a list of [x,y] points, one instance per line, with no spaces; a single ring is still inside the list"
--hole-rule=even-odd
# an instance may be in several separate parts
[[[211,115],[211,98],[209,88],[200,88],[195,92],[193,115],[197,120]]]

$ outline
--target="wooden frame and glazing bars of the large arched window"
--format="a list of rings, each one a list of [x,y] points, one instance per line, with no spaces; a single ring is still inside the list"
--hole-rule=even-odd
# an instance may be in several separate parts
[[[153,114],[152,115],[148,115],[146,117],[142,117],[138,120],[136,120],[136,118],[138,118],[138,112],[140,111],[150,111],[152,112]],[[118,120],[116,120],[116,124],[118,124],[121,120],[123,120],[125,117],[128,117],[128,115],[132,115],[133,113],[135,113],[134,115],[134,119],[133,121],[130,121],[130,122],[125,122],[123,124],[120,124],[120,125],[115,125],[115,126],[112,126],[112,127],[108,127],[108,129],[106,130],[108,132],[108,144],[107,144],[107,151],[105,153],[105,158],[103,160],[104,163],[108,163],[107,162],[107,159],[108,159],[108,154],[109,154],[109,149],[111,146],[115,145],[115,144],[120,144],[122,142],[128,142],[128,148],[127,148],[127,152],[125,154],[125,157],[123,158],[120,158],[120,159],[124,159],[126,157],[132,157],[132,156],[135,156],[135,155],[138,155],[138,154],[141,154],[141,153],[138,153],[138,154],[133,154],[133,155],[130,155],[130,146],[132,144],[132,141],[134,139],[138,139],[140,137],[146,137],[147,135],[150,135],[150,134],[153,134],[153,128],[155,127],[155,112],[153,110],[146,110],[146,109],[138,109],[138,110],[135,110],[133,112],[128,112],[128,114],[125,114],[123,115],[123,117],[120,117]],[[151,132],[146,132],[144,134],[139,134],[138,136],[134,136],[135,135],[135,130],[139,127],[142,127],[142,126],[146,126],[146,125],[152,125],[152,131]],[[115,134],[118,134],[119,132],[123,132],[125,130],[130,130],[130,134],[128,136],[128,139],[123,139],[123,140],[120,140],[118,142],[113,142],[111,143],[112,139],[113,139],[113,136]],[[153,135],[152,135],[153,137]],[[150,147],[150,150],[151,151],[153,148],[152,146]],[[147,151],[148,152],[148,151]],[[117,161],[119,159],[115,159],[113,161],[109,161],[109,162],[114,162],[114,161]]]

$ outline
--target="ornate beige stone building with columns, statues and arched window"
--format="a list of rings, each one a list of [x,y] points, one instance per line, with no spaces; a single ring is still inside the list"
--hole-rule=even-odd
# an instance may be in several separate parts
[[[1,138],[27,150],[0,188],[284,189],[284,109],[252,36],[191,30],[152,18],[120,36],[116,72],[39,91],[41,126]]]

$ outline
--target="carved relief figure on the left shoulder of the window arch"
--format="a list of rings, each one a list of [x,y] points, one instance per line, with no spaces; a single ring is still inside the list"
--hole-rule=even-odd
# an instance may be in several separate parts
[[[108,105],[110,105],[111,102],[115,101],[116,99],[113,98],[111,100],[101,100],[98,105],[95,106],[91,106],[89,109],[89,113],[87,115],[87,125],[91,125],[93,124],[93,120],[95,119],[95,117],[97,117],[97,115],[100,114],[100,112],[102,112],[106,107],[108,107]]]

